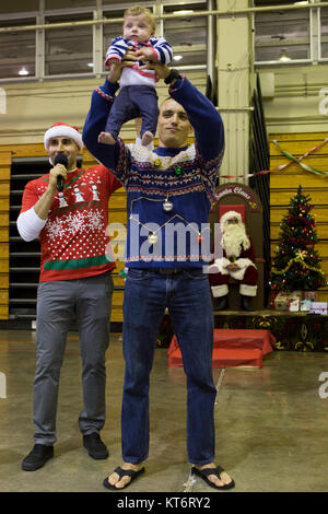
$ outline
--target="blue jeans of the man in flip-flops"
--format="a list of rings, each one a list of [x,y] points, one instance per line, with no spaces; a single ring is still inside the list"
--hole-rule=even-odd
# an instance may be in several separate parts
[[[209,464],[214,459],[216,395],[212,377],[213,311],[208,276],[196,268],[177,274],[129,269],[124,300],[122,457],[132,464],[148,457],[150,372],[165,307],[187,375],[188,459],[196,465]]]

